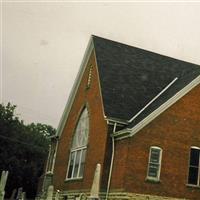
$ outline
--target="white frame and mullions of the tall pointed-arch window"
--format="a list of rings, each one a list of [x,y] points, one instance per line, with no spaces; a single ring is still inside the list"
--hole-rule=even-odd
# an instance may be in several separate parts
[[[75,140],[77,140],[77,134],[80,134],[82,132],[82,129],[80,130],[80,128],[78,128],[78,125],[79,123],[81,123],[81,120],[82,120],[82,116],[83,116],[83,113],[84,112],[87,112],[87,127],[86,129],[84,129],[84,131],[87,131],[87,140],[86,142],[83,144],[83,145],[79,145],[79,146],[75,146],[73,147],[73,144],[76,143]],[[85,117],[84,117],[85,118]],[[89,135],[89,114],[88,114],[88,109],[87,107],[85,107],[81,114],[80,114],[80,117],[79,117],[79,120],[77,122],[77,125],[76,125],[76,128],[75,128],[75,132],[74,132],[74,136],[73,136],[73,139],[72,139],[72,144],[71,144],[71,149],[70,149],[70,156],[69,156],[69,160],[68,160],[68,167],[67,167],[67,174],[66,174],[66,180],[74,180],[74,179],[82,179],[83,178],[83,173],[80,174],[80,169],[81,169],[81,164],[82,164],[82,158],[83,158],[83,153],[86,154],[87,152],[87,143],[88,143],[88,135]],[[76,176],[74,176],[74,171],[75,171],[75,167],[76,167],[76,156],[77,154],[80,152],[80,157],[79,157],[79,160],[78,160],[78,170],[77,170],[77,174]],[[74,155],[74,160],[73,160],[73,164],[72,164],[72,171],[71,171],[71,176],[69,177],[69,172],[70,172],[70,166],[71,166],[71,157],[72,157],[72,154],[75,154]],[[84,155],[86,157],[86,155]],[[84,164],[85,164],[85,157],[84,157]],[[83,171],[84,171],[84,166],[83,166]]]

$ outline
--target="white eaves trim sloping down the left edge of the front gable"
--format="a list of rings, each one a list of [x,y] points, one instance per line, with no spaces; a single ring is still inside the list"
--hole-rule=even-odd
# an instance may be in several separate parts
[[[60,120],[60,122],[59,122],[59,124],[58,124],[57,132],[56,132],[56,135],[57,135],[57,136],[61,136],[61,134],[62,134],[62,132],[63,132],[63,129],[64,129],[64,127],[65,127],[65,123],[66,123],[66,121],[67,121],[69,112],[70,112],[71,107],[72,107],[72,104],[73,104],[73,102],[74,102],[74,98],[75,98],[75,96],[76,96],[76,93],[77,93],[79,84],[80,84],[80,82],[81,82],[83,73],[84,73],[84,71],[85,71],[87,62],[88,62],[88,60],[89,60],[89,58],[90,58],[90,55],[91,55],[93,49],[94,49],[94,44],[93,44],[93,39],[92,39],[92,36],[91,36],[91,37],[90,37],[90,40],[89,40],[89,43],[88,43],[88,46],[87,46],[87,48],[86,48],[86,51],[85,51],[83,60],[82,60],[82,62],[81,62],[81,66],[80,66],[80,68],[79,68],[78,75],[76,76],[76,79],[75,79],[74,85],[73,85],[73,87],[72,87],[72,90],[71,90],[71,92],[70,92],[70,95],[69,95],[67,104],[66,104],[66,106],[65,106],[65,109],[64,109],[64,112],[63,112],[63,114],[62,114],[61,120]]]

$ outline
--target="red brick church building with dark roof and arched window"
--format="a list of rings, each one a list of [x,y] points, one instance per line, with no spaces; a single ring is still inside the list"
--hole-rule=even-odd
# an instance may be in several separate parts
[[[43,189],[200,199],[200,66],[92,36],[52,138]]]

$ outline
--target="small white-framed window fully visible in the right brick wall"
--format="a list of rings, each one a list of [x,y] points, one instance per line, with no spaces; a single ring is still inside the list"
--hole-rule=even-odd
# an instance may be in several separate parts
[[[150,148],[147,179],[159,181],[161,157],[162,149],[160,147],[153,146]]]

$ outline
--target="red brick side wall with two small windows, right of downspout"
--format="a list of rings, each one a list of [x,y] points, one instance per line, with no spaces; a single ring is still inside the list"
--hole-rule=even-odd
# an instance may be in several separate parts
[[[145,181],[150,146],[163,149],[160,183]],[[135,136],[116,141],[111,188],[200,199],[200,188],[186,186],[191,146],[200,147],[200,85]]]

